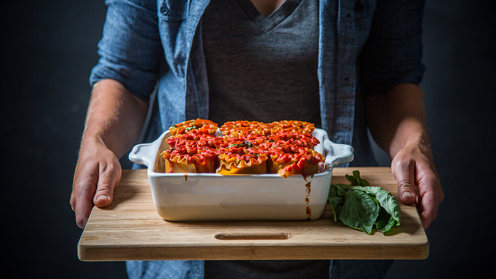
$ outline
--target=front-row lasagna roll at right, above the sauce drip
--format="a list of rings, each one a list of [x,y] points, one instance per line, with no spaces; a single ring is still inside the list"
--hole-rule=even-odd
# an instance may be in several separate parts
[[[310,149],[302,146],[285,145],[269,149],[271,160],[271,173],[277,173],[283,177],[293,174],[314,174],[319,170],[319,163],[324,157]]]

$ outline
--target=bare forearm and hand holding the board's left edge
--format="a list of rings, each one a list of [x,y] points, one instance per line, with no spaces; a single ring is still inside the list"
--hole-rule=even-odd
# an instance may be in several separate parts
[[[70,196],[79,227],[88,222],[93,205],[112,203],[122,173],[118,158],[139,136],[147,110],[148,102],[115,80],[93,87]]]

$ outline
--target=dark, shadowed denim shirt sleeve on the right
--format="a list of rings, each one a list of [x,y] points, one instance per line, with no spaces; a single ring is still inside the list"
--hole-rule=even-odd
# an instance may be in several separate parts
[[[369,38],[360,55],[360,87],[365,95],[385,93],[404,82],[419,84],[424,0],[378,0]]]

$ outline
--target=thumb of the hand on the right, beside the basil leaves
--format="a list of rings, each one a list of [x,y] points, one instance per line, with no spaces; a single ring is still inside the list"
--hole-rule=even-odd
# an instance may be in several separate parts
[[[393,162],[391,171],[398,184],[398,197],[403,204],[417,202],[415,190],[415,162],[411,160]]]

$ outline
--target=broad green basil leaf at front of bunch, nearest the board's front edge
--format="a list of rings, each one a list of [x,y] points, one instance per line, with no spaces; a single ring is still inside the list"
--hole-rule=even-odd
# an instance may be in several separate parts
[[[371,234],[379,209],[377,201],[369,194],[350,188],[346,192],[345,202],[339,213],[339,220],[348,226]]]

